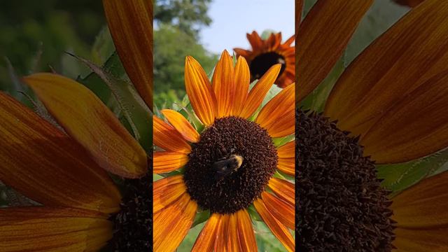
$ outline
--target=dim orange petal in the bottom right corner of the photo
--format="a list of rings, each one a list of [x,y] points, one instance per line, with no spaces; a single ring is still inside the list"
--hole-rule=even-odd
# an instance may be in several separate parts
[[[448,173],[437,174],[393,197],[393,244],[400,251],[447,251]]]

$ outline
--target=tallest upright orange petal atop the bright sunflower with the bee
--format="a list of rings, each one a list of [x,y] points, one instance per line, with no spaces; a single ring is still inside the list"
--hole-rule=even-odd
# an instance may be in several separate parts
[[[212,87],[216,95],[217,102],[217,118],[223,118],[232,114],[235,90],[235,73],[233,69],[232,57],[227,50],[221,54],[218,64],[216,64],[213,78],[211,79]]]

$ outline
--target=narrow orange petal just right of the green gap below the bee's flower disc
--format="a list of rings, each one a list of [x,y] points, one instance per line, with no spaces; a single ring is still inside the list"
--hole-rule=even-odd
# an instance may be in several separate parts
[[[213,251],[221,214],[212,214],[195,241],[192,252]]]

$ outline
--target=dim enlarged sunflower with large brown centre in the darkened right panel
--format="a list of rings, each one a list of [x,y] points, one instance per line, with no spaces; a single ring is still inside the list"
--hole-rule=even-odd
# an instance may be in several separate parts
[[[318,1],[296,25],[297,246],[448,251],[448,173],[390,196],[375,170],[448,146],[447,1],[423,1],[361,52],[323,113],[303,107],[371,3]]]

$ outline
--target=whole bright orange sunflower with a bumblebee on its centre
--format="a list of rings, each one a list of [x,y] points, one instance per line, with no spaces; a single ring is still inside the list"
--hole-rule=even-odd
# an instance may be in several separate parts
[[[280,64],[272,66],[249,91],[250,73],[244,57],[235,67],[227,51],[216,65],[211,83],[202,66],[186,58],[185,82],[202,132],[181,113],[162,110],[154,116],[154,173],[181,174],[154,182],[154,251],[174,251],[191,228],[197,211],[211,216],[193,251],[257,251],[248,207],[273,234],[294,250],[294,141],[275,146],[273,138],[294,132],[294,83],[259,111]],[[249,118],[253,118],[249,120]],[[276,175],[274,175],[276,174]]]

